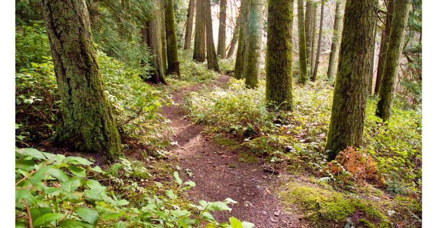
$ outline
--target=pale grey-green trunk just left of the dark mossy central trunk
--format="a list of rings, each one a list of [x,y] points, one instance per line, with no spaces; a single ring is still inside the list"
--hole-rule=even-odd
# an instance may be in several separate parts
[[[249,15],[249,40],[246,63],[246,86],[258,87],[259,58],[261,56],[261,36],[263,0],[251,0]]]

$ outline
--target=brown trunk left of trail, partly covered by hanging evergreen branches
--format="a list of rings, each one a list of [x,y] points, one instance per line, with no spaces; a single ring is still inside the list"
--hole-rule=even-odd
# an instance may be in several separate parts
[[[160,0],[153,0],[157,6]],[[163,48],[162,48],[162,27],[161,27],[161,13],[158,8],[151,11],[152,19],[147,22],[147,29],[145,30],[145,37],[147,37],[147,45],[150,48],[152,54],[151,63],[154,67],[152,78],[150,79],[154,83],[167,84],[165,80],[165,71],[163,66]]]

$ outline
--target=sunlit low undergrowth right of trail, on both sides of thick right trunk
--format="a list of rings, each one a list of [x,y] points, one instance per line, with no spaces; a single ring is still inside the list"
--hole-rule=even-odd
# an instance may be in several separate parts
[[[296,86],[293,112],[268,111],[264,90],[264,81],[258,89],[247,89],[242,80],[231,79],[228,90],[192,93],[185,108],[193,121],[207,124],[211,133],[236,137],[270,162],[291,160],[299,170],[325,175],[332,86],[325,81]],[[362,149],[374,158],[383,179],[402,181],[409,191],[420,192],[421,110],[398,100],[391,123],[384,125],[375,116],[376,102],[368,100]]]

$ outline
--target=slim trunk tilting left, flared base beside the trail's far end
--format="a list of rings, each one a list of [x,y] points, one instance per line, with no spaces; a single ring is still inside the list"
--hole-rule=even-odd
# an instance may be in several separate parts
[[[206,24],[206,60],[208,62],[208,69],[222,73],[217,61],[217,55],[214,47],[214,36],[212,34],[212,16],[211,16],[211,2],[210,0],[203,0],[205,4],[205,24]]]

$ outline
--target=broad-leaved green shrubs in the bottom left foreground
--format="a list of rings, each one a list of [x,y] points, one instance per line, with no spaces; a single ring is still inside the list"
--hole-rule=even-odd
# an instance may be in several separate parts
[[[126,165],[125,165],[126,166]],[[65,157],[33,148],[16,149],[16,227],[253,227],[234,217],[230,224],[219,223],[212,211],[231,211],[236,201],[199,201],[191,211],[177,204],[178,193],[195,186],[174,173],[178,188],[164,195],[143,192],[144,204],[131,207],[129,201],[96,180],[108,174],[82,157]],[[109,178],[116,181],[116,178]],[[163,185],[156,182],[159,189]]]

